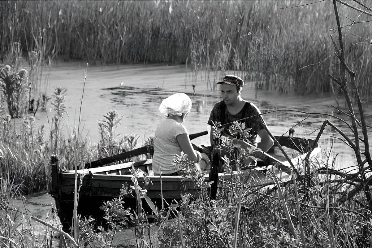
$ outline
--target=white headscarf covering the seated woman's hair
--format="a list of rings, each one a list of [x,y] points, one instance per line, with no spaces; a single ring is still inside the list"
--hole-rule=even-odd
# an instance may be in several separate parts
[[[165,117],[187,114],[191,109],[191,99],[185,93],[176,93],[164,99],[159,107]]]

